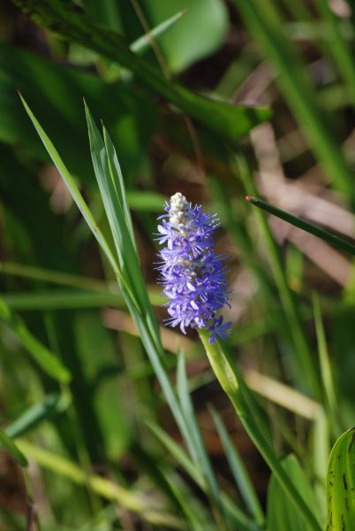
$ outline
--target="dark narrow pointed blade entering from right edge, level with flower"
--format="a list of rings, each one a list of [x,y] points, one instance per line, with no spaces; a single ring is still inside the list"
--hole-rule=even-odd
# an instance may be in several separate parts
[[[314,225],[312,225],[312,223],[308,223],[308,221],[305,221],[304,219],[299,219],[296,216],[290,214],[289,212],[284,212],[276,206],[269,204],[266,201],[262,201],[262,199],[258,199],[257,197],[252,196],[246,196],[245,199],[254,206],[261,208],[261,210],[268,212],[269,214],[273,214],[277,218],[283,219],[284,221],[287,221],[287,223],[290,223],[294,227],[301,228],[310,235],[314,235],[318,238],[321,238],[321,240],[330,243],[330,245],[336,247],[336,249],[344,250],[345,252],[349,252],[352,256],[355,256],[355,245],[346,242],[342,238],[339,238],[336,235],[332,235],[331,233],[326,230],[323,230],[322,228],[315,227]]]

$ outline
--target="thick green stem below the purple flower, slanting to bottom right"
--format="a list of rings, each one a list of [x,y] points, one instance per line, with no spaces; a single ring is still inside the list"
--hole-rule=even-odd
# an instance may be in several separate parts
[[[213,344],[208,342],[208,331],[199,330],[200,339],[205,347],[209,362],[215,373],[217,380],[220,382],[224,392],[230,398],[230,402],[238,413],[238,417],[245,427],[245,431],[252,439],[256,448],[260,451],[261,456],[267,462],[276,480],[279,481],[292,504],[297,508],[300,516],[313,531],[321,531],[321,526],[313,516],[298,490],[295,488],[291,478],[283,470],[275,451],[268,444],[266,438],[261,433],[258,422],[255,421],[253,410],[250,409],[246,394],[251,393],[247,388],[242,375],[238,368],[231,364],[230,358],[223,348],[223,343],[216,341]]]

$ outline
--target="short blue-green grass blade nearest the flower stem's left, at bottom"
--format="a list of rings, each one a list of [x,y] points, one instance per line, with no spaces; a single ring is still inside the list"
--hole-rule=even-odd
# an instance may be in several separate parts
[[[253,488],[253,483],[250,479],[250,476],[247,473],[243,461],[238,454],[238,450],[230,440],[230,436],[223,425],[220,415],[213,407],[211,407],[209,411],[211,412],[218,435],[223,443],[223,449],[230,465],[230,471],[238,485],[238,489],[244,499],[245,505],[250,514],[253,516],[256,524],[262,527],[265,523],[265,515],[262,511],[261,504],[259,502],[258,496],[256,495],[255,489]]]

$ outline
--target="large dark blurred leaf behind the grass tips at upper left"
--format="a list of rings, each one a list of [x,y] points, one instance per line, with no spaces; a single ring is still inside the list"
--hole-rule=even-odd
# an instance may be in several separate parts
[[[2,142],[24,146],[33,157],[49,160],[23,112],[19,90],[57,150],[65,155],[70,173],[80,182],[94,183],[82,112],[85,97],[121,148],[126,180],[132,182],[147,165],[147,148],[156,125],[155,107],[148,95],[142,96],[141,91],[133,91],[126,83],[104,82],[93,73],[49,61],[5,42],[0,42],[0,65]]]

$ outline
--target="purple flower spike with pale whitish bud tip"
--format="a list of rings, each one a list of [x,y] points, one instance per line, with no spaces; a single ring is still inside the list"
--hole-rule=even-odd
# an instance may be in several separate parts
[[[225,270],[213,250],[212,235],[220,223],[216,215],[202,212],[197,204],[193,207],[180,193],[170,198],[165,206],[166,214],[158,226],[159,242],[165,244],[160,251],[162,263],[160,281],[164,294],[170,299],[166,319],[171,327],[207,328],[211,332],[209,342],[217,335],[225,339],[231,323],[215,313],[228,304]]]

